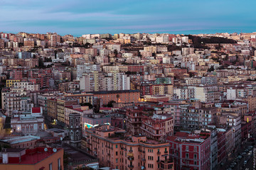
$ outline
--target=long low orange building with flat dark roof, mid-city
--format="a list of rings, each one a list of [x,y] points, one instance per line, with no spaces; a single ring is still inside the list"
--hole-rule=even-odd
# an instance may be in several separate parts
[[[132,103],[139,101],[139,90],[120,90],[120,91],[90,91],[95,98],[101,98],[103,104],[110,101],[117,103]]]

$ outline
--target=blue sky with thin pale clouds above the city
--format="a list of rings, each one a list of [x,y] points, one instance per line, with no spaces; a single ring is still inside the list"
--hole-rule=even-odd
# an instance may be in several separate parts
[[[256,32],[255,0],[0,0],[0,32]]]

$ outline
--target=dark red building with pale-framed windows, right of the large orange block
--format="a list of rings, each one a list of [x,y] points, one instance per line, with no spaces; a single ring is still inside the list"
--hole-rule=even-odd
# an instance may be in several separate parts
[[[177,132],[174,137],[167,137],[167,142],[171,145],[170,155],[174,157],[175,169],[210,169],[210,137],[208,136]]]

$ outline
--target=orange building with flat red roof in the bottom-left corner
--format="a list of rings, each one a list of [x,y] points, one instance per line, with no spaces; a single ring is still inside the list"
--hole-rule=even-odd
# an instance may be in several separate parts
[[[53,170],[63,169],[63,149],[36,147],[35,149],[6,148],[0,152],[0,169]]]

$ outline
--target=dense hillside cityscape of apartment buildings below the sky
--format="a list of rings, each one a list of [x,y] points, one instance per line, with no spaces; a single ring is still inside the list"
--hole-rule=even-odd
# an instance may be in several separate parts
[[[0,169],[255,169],[256,33],[0,33]]]

